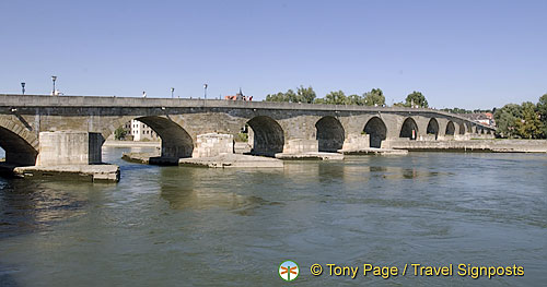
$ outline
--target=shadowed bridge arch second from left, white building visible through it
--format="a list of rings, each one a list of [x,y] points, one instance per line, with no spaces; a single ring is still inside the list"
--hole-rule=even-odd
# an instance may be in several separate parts
[[[171,119],[148,116],[136,120],[150,127],[162,139],[162,157],[191,157],[194,141],[188,132]]]

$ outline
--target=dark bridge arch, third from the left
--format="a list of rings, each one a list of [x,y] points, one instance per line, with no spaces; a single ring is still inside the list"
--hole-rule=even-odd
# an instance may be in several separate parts
[[[283,152],[284,132],[276,120],[258,116],[247,121],[247,124],[254,133],[252,154],[275,156]]]

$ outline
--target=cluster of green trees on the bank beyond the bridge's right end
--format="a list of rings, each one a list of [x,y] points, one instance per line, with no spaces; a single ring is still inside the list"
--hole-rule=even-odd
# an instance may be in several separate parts
[[[524,101],[494,109],[493,119],[496,133],[501,137],[546,139],[547,94],[539,97],[537,104]]]

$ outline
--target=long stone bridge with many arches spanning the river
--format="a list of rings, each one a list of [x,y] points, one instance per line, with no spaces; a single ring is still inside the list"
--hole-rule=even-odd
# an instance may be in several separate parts
[[[233,152],[233,136],[242,130],[249,131],[252,153],[268,156],[493,137],[487,125],[433,109],[0,95],[0,146],[15,165],[95,164],[104,139],[131,119],[160,135],[166,158]],[[220,146],[222,141],[228,144]]]

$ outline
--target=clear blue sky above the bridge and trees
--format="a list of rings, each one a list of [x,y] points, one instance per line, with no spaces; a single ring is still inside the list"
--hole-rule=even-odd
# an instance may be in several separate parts
[[[0,2],[0,93],[182,97],[380,87],[388,105],[547,93],[547,1]]]

